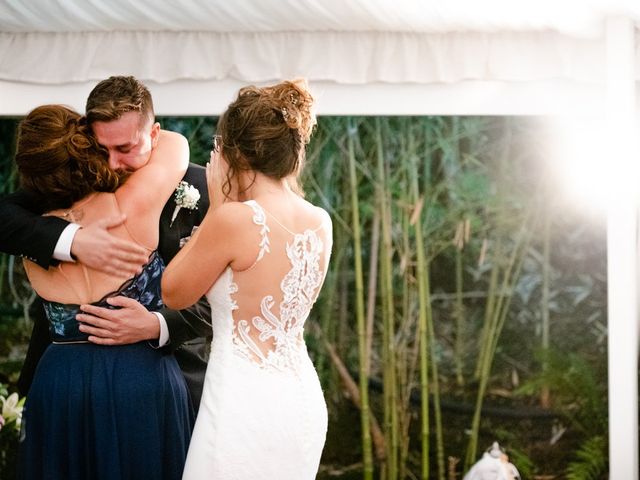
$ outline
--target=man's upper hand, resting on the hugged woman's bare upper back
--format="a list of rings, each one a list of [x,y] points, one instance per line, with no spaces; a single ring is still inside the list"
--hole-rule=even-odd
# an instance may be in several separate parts
[[[71,254],[95,270],[117,277],[130,277],[140,272],[149,252],[130,240],[116,237],[110,228],[122,225],[125,216],[98,220],[79,229],[73,237]]]

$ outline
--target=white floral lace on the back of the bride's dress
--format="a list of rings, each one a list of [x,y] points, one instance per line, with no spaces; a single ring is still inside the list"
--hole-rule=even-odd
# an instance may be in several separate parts
[[[262,207],[253,200],[245,203],[254,211],[253,222],[261,227],[260,252],[255,266],[265,253],[272,253],[270,229]],[[265,295],[260,301],[259,314],[250,320],[234,321],[232,333],[237,354],[261,368],[281,372],[297,372],[302,355],[306,355],[304,323],[323,280],[320,268],[323,243],[316,231],[307,229],[291,235],[293,238],[285,247],[291,268],[280,281],[282,301],[277,305],[273,295]],[[237,292],[237,284],[231,282],[232,310],[238,310],[232,298]]]

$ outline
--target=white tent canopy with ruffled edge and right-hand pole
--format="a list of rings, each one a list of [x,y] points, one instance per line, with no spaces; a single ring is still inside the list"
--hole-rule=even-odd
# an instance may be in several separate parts
[[[621,126],[610,141],[624,147],[638,133],[639,24],[637,0],[0,0],[0,115],[82,111],[97,81],[122,74],[147,83],[157,114],[215,115],[241,85],[305,77],[320,114],[598,115]],[[606,159],[620,178],[630,151]],[[608,234],[610,478],[633,480],[636,197],[619,206]]]

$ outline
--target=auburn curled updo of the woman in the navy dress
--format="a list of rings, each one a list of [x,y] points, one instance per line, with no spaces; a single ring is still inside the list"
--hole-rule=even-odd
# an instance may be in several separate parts
[[[113,192],[124,178],[109,168],[85,119],[63,105],[37,107],[20,122],[15,159],[23,188],[39,195],[45,210]]]

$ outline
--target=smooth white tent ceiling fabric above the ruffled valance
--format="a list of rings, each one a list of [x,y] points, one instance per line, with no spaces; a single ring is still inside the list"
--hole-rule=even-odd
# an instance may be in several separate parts
[[[5,32],[541,31],[597,35],[633,0],[0,0]]]

